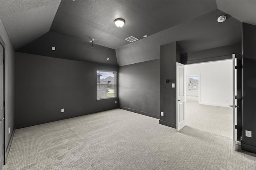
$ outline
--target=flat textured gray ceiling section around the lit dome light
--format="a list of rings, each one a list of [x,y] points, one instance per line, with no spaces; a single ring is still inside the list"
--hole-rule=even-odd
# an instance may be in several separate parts
[[[112,49],[143,39],[164,29],[217,9],[215,1],[62,1],[50,31],[90,41]],[[124,27],[114,20],[123,18]]]

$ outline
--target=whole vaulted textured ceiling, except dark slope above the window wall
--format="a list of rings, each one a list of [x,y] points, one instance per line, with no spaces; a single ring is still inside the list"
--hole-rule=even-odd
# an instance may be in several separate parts
[[[88,45],[95,39],[126,65],[151,60],[136,53],[173,41],[182,53],[239,43],[241,22],[256,25],[255,9],[254,0],[0,0],[0,19],[15,51],[58,34]],[[227,16],[224,23],[217,22],[220,15]],[[114,25],[116,18],[124,27]],[[130,36],[139,40],[126,41]]]

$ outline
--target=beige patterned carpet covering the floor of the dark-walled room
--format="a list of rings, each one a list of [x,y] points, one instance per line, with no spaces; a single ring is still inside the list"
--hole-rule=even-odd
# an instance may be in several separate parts
[[[232,139],[122,109],[17,129],[4,170],[253,170]]]

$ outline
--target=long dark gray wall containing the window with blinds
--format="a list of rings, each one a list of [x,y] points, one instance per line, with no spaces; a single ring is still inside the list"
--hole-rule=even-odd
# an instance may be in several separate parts
[[[102,68],[118,71],[118,66],[16,52],[16,127],[118,108],[118,98],[97,100],[96,71]]]

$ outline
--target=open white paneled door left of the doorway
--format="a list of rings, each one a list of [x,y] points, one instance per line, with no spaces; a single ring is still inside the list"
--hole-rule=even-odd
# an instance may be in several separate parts
[[[176,63],[176,129],[185,126],[184,115],[184,64]]]

